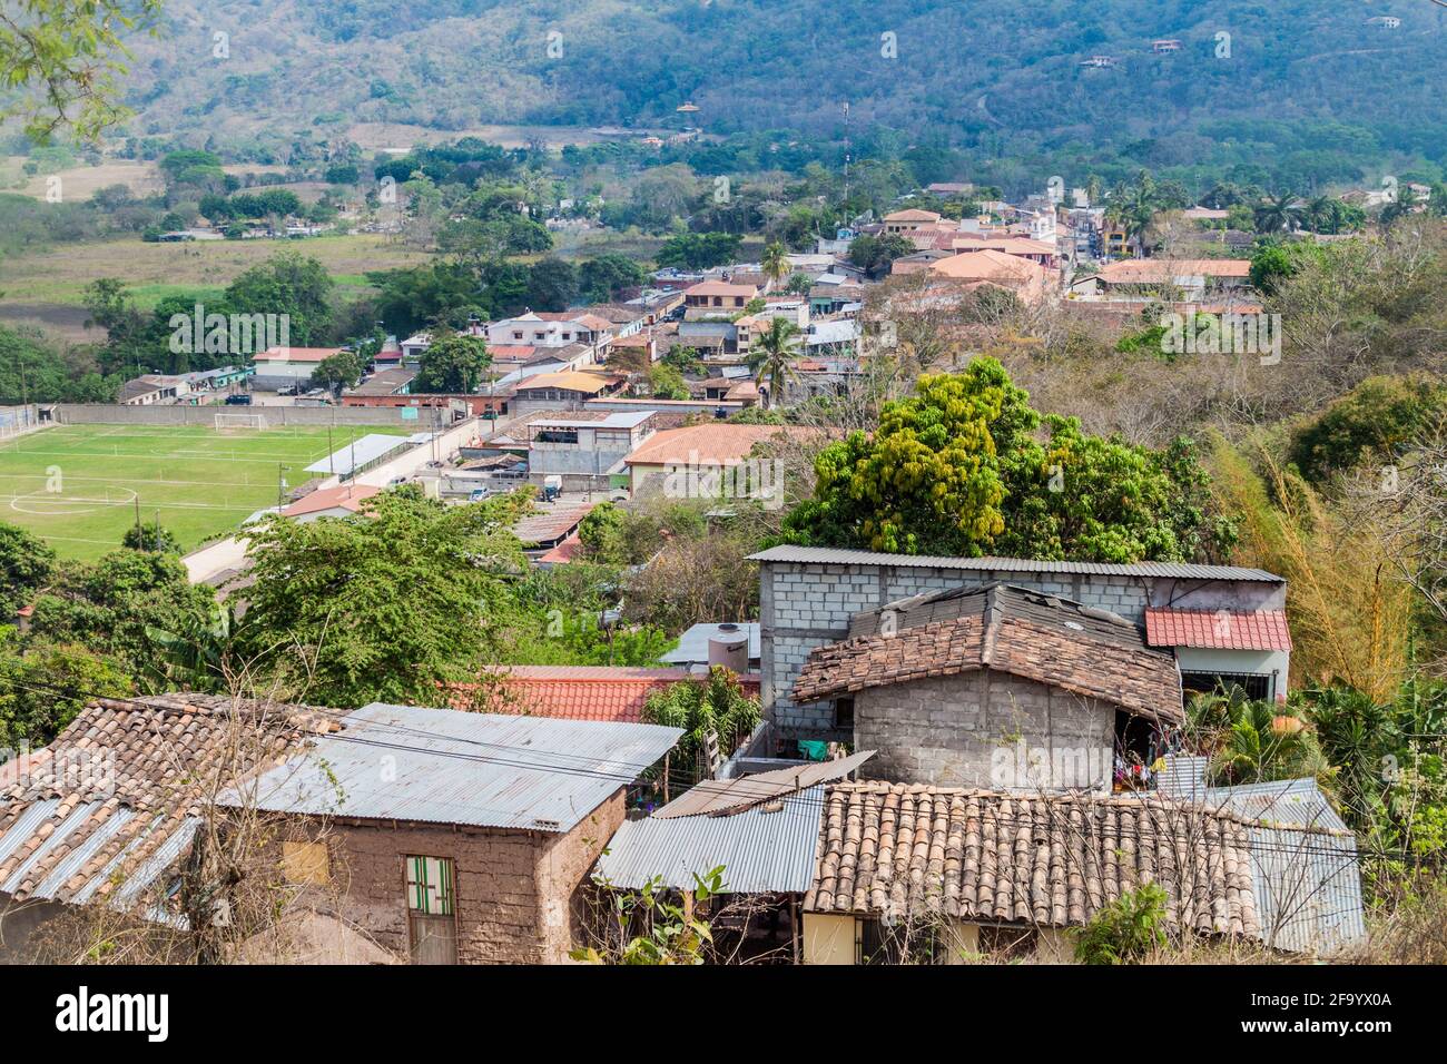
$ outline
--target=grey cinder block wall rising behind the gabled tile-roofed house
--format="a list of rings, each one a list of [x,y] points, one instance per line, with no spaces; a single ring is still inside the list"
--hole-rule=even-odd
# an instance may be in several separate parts
[[[845,638],[854,614],[929,591],[997,582],[1062,595],[1137,624],[1145,624],[1147,601],[1146,582],[1132,576],[761,562],[758,579],[765,714],[784,737],[841,741],[851,734],[833,728],[828,704],[794,705],[789,692],[809,651]]]

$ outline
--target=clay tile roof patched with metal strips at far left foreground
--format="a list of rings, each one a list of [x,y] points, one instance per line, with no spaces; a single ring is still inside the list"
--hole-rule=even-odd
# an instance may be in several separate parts
[[[0,892],[139,902],[190,844],[205,795],[341,717],[216,695],[97,699],[48,747],[0,767]]]

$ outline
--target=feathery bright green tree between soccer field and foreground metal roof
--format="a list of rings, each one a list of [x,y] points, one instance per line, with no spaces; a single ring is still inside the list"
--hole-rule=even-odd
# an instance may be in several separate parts
[[[323,705],[436,705],[438,683],[496,660],[508,582],[527,569],[508,531],[525,505],[446,507],[399,488],[359,518],[250,527],[242,659],[294,666],[295,696]]]

